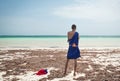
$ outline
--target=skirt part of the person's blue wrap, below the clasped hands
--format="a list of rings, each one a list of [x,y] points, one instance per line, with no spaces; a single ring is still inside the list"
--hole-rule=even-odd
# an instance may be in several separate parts
[[[77,59],[80,57],[80,50],[78,47],[69,46],[67,59]]]

